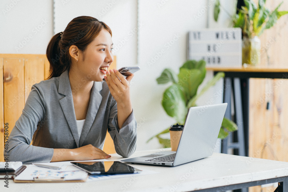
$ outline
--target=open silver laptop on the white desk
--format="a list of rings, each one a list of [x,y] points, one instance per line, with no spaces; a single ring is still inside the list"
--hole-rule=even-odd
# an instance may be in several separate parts
[[[177,166],[211,156],[220,131],[227,103],[190,107],[177,151],[161,151],[124,162]]]

